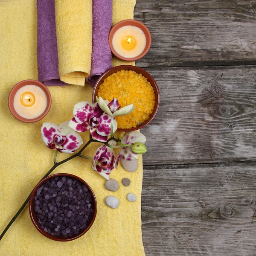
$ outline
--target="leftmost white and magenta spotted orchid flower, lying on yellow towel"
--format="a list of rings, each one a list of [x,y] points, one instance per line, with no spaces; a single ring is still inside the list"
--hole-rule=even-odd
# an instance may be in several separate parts
[[[72,154],[82,144],[83,140],[72,128],[68,121],[55,125],[46,122],[41,127],[42,140],[48,148],[57,149],[61,153]]]

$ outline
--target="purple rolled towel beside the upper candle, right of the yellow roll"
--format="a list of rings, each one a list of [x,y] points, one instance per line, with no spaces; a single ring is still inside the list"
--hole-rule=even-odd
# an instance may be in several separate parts
[[[93,48],[90,76],[86,81],[93,87],[106,70],[112,67],[108,34],[112,26],[112,0],[93,0]]]

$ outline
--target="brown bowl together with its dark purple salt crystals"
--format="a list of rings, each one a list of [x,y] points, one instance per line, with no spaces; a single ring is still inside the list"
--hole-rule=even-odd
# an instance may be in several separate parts
[[[93,190],[81,178],[67,173],[51,175],[33,189],[29,214],[37,230],[55,241],[84,235],[96,218]]]

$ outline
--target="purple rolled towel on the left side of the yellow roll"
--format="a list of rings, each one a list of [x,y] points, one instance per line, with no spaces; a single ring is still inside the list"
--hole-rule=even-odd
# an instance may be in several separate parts
[[[38,81],[45,85],[64,85],[58,73],[55,1],[37,0],[37,17]]]

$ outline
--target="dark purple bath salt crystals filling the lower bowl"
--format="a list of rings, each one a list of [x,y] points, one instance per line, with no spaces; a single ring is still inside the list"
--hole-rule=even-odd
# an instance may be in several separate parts
[[[52,236],[69,237],[82,232],[93,218],[93,206],[88,188],[73,177],[47,180],[34,197],[38,222]]]

